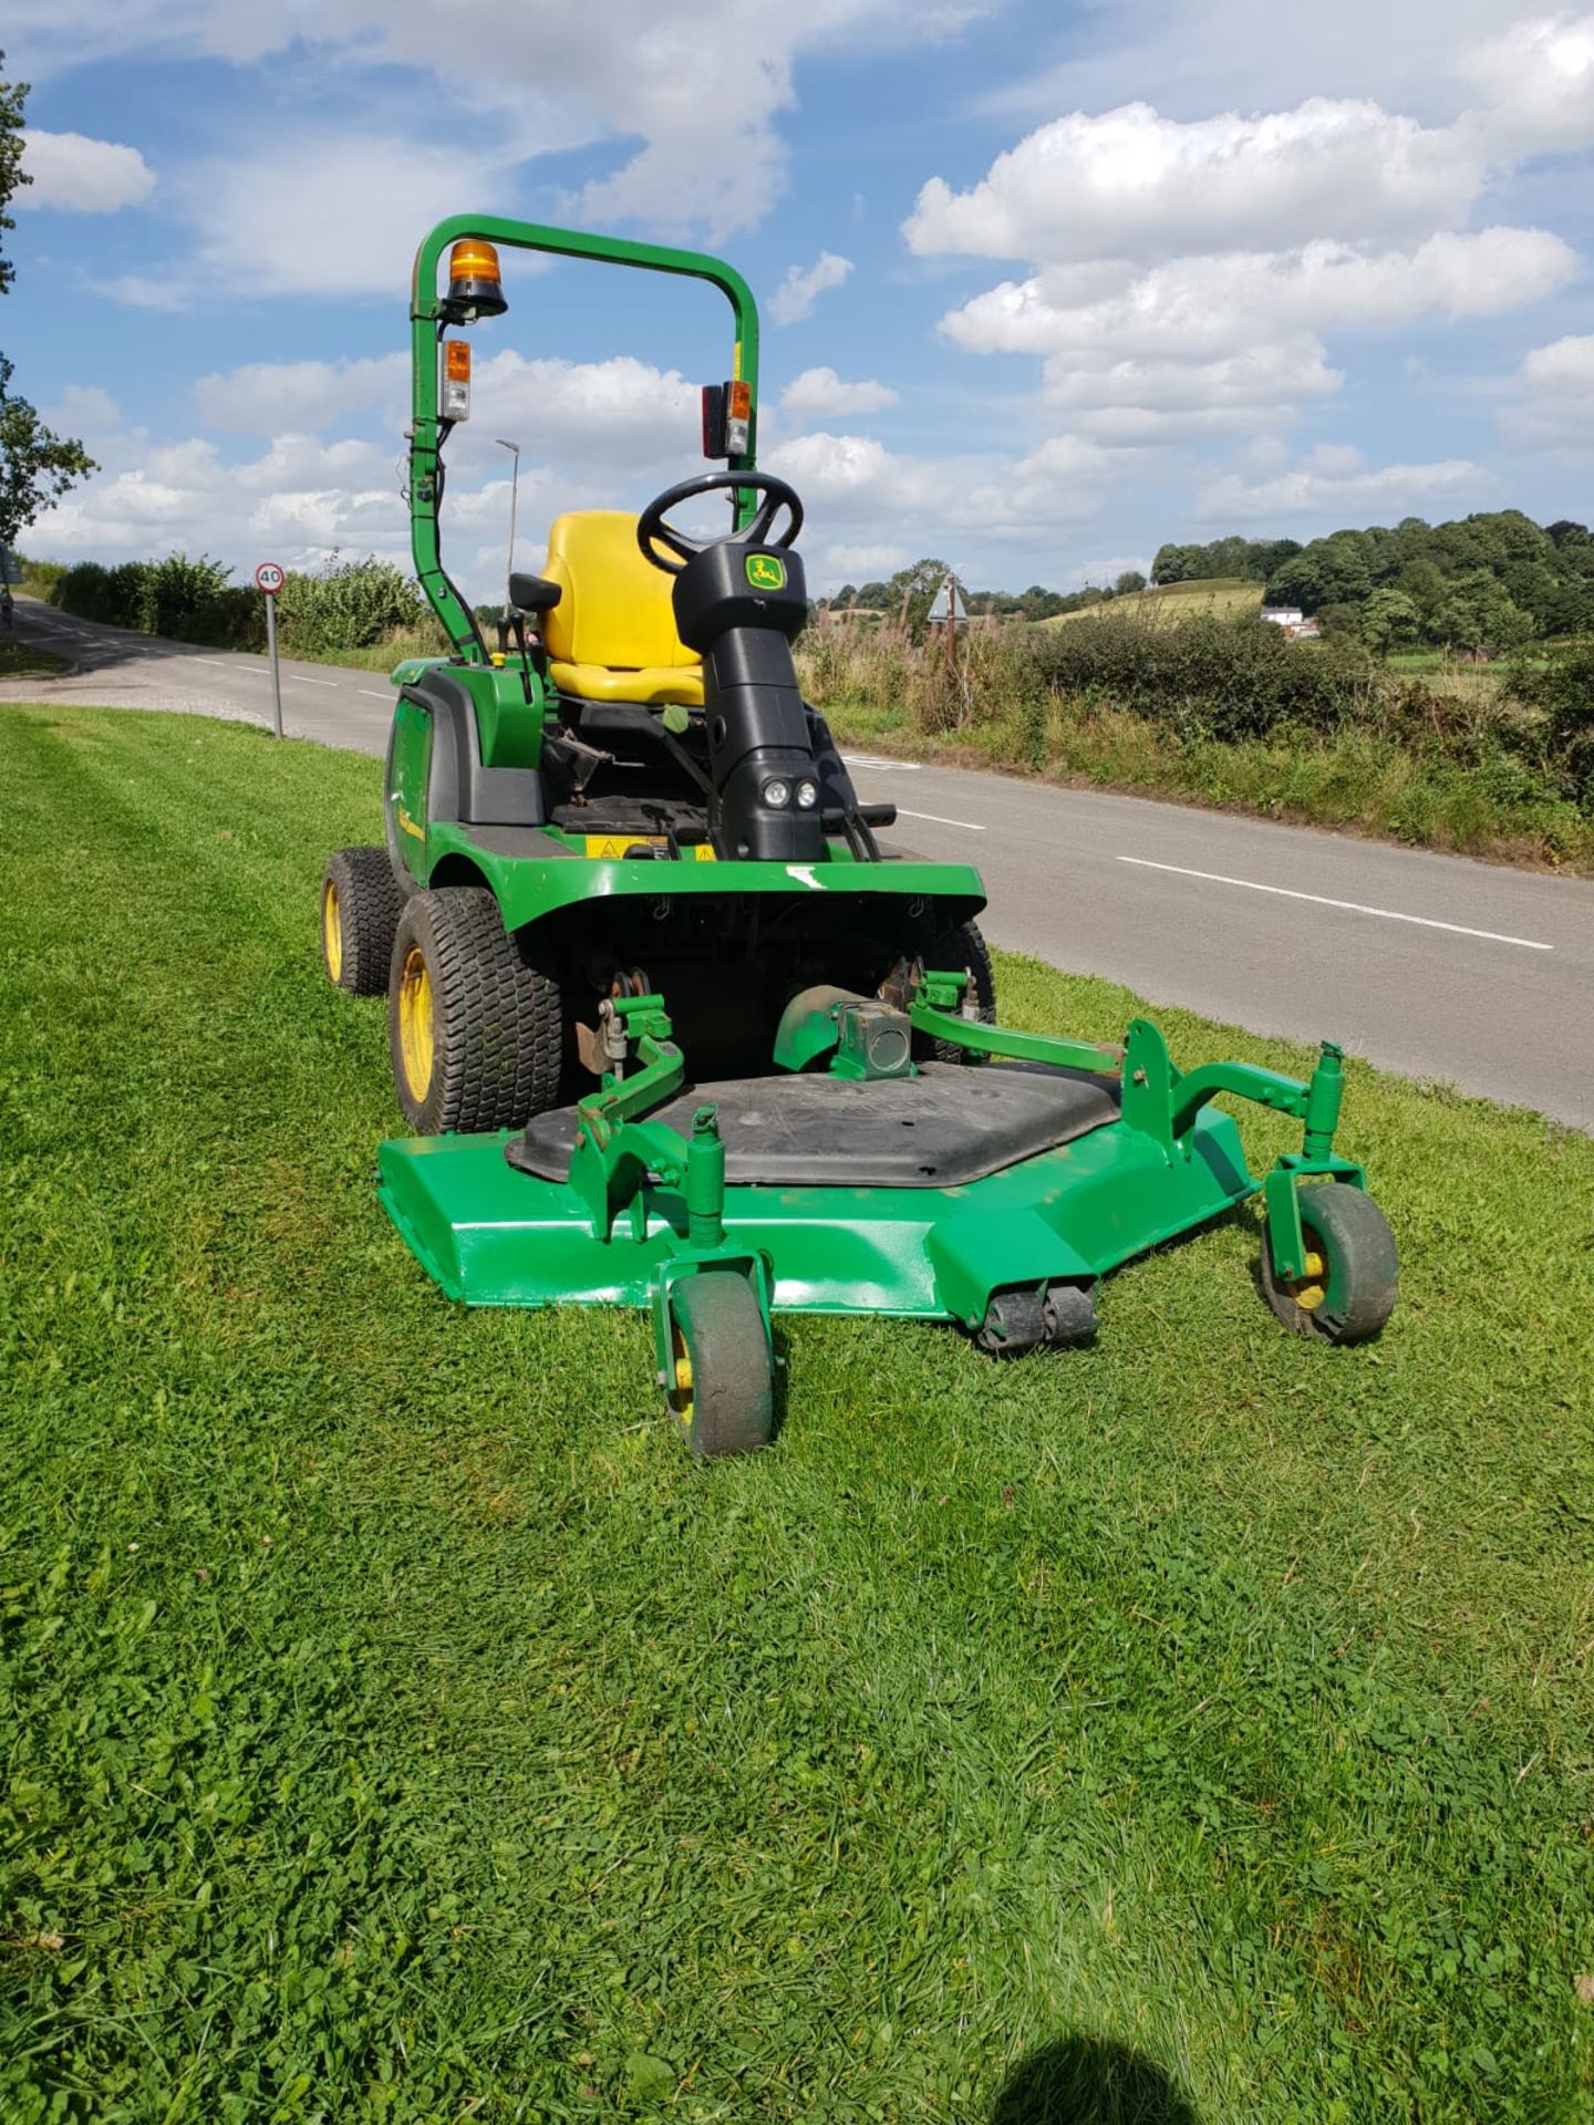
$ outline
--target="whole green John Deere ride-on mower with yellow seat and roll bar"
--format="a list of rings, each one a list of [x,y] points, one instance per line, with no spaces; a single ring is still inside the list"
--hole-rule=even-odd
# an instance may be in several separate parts
[[[703,450],[640,518],[559,516],[510,578],[497,648],[438,542],[470,408],[448,327],[499,314],[497,246],[710,280],[735,312]],[[446,291],[438,291],[448,251]],[[332,980],[387,992],[419,1135],[380,1148],[408,1247],[468,1305],[650,1307],[695,1454],[769,1441],[771,1309],[956,1322],[990,1356],[1082,1343],[1120,1262],[1262,1192],[1262,1288],[1356,1343],[1394,1305],[1394,1241],[1337,1156],[1339,1050],[1309,1084],[1180,1071],[997,1022],[980,876],[882,846],[791,642],[801,502],[754,465],[759,327],[718,259],[457,217],[417,255],[414,561],[455,654],[395,672],[387,842],[327,865]],[[723,538],[672,521],[720,491]],[[1211,1103],[1303,1124],[1262,1182]],[[1311,1186],[1301,1186],[1301,1184]]]

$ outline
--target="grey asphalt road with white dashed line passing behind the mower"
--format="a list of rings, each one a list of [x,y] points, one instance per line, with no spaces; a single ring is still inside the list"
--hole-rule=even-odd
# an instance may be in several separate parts
[[[153,642],[26,599],[17,631],[79,669],[0,682],[0,699],[270,725],[264,657]],[[391,703],[380,674],[283,663],[293,737],[380,752]],[[995,944],[1154,1005],[1330,1035],[1386,1069],[1594,1133],[1594,884],[1143,797],[850,761],[861,797],[899,805],[895,842],[980,867]]]

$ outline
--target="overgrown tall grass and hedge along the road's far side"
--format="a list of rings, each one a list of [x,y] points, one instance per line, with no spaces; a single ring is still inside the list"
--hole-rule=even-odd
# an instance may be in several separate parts
[[[799,646],[837,735],[1056,780],[1239,805],[1471,854],[1594,869],[1594,652],[1447,691],[1252,618],[942,640],[820,627]],[[1579,706],[1583,703],[1583,706]]]

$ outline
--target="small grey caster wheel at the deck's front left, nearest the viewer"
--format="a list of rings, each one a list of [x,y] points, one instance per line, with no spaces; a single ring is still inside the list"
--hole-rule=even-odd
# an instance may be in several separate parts
[[[669,1294],[665,1400],[695,1460],[757,1454],[776,1430],[769,1339],[746,1277],[706,1269]]]

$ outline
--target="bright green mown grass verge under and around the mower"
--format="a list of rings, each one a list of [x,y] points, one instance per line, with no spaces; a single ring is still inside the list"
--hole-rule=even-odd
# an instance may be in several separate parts
[[[697,1468],[376,1207],[376,765],[0,716],[6,2121],[1590,2114],[1594,1143],[1354,1067],[1377,1347],[1235,1216],[1067,1360],[791,1324]]]

